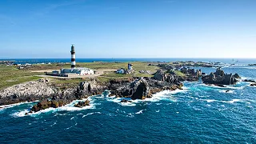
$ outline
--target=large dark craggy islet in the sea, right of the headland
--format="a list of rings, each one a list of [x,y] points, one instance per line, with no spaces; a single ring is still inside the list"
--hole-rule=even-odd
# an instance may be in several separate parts
[[[235,77],[239,77],[239,75],[235,74]],[[223,70],[218,68],[215,73],[203,76],[202,82],[214,85],[234,85],[238,80],[234,78],[234,75],[225,74]]]

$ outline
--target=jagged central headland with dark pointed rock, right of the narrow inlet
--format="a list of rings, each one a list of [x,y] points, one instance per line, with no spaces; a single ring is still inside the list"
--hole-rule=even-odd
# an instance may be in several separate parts
[[[182,83],[174,75],[158,70],[153,78],[133,78],[130,81],[110,82],[111,94],[122,98],[144,99],[162,90],[182,89]],[[113,89],[114,87],[117,89]]]

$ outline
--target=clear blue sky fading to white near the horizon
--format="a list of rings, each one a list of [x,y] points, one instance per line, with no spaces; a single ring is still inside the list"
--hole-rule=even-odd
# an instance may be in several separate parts
[[[256,0],[1,0],[0,58],[256,58]]]

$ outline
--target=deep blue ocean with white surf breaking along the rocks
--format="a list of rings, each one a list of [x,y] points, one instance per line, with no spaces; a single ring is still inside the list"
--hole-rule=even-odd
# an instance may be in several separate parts
[[[198,61],[232,63],[231,59]],[[256,60],[238,59],[235,66],[225,65],[222,70],[256,80],[256,66],[248,63]],[[198,69],[206,74],[215,71]],[[238,82],[220,88],[200,81],[185,82],[184,90],[162,91],[146,100],[122,104],[122,98],[97,95],[90,97],[91,106],[83,109],[71,103],[29,116],[25,113],[34,103],[19,103],[0,110],[0,142],[256,143],[256,87],[249,85]]]

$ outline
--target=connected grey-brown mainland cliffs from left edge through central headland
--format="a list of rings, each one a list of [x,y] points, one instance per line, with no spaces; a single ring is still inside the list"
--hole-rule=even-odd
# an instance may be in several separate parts
[[[24,89],[26,92],[22,92],[21,89]],[[102,94],[105,90],[110,90],[111,94],[116,95],[116,97],[144,99],[150,98],[152,94],[162,90],[177,89],[182,89],[182,83],[179,82],[178,78],[173,74],[165,74],[158,70],[154,78],[114,79],[106,83],[90,79],[89,81],[81,82],[74,88],[66,89],[58,89],[58,87],[50,85],[48,80],[40,79],[37,82],[27,82],[3,90],[0,101],[3,105],[9,104],[8,102],[14,103],[16,99],[17,102],[39,100],[31,108],[30,113],[32,113],[50,107],[64,106],[74,100]],[[78,102],[75,106],[89,106],[89,103],[89,101]]]

